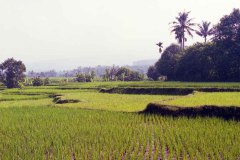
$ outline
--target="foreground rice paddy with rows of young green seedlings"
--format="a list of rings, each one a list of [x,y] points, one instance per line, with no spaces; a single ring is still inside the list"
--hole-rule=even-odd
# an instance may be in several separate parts
[[[238,159],[234,121],[79,109],[0,109],[2,159]]]

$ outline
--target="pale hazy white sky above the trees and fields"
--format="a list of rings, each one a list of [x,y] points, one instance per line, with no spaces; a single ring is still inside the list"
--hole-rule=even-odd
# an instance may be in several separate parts
[[[233,8],[239,0],[0,0],[0,60],[63,70],[157,59],[158,41],[176,42],[169,22],[178,12],[214,24]]]

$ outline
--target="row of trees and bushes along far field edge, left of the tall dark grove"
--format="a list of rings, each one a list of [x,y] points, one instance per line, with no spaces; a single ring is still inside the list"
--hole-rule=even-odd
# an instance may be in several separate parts
[[[9,58],[0,64],[0,82],[7,88],[22,88],[23,86],[43,86],[49,85],[50,79],[48,77],[41,77],[39,75],[26,77],[26,66],[22,61]],[[46,72],[48,74],[55,74],[54,71]],[[34,73],[35,74],[35,73]],[[34,75],[32,74],[32,75]],[[72,82],[94,82],[98,81],[141,81],[144,80],[144,74],[129,69],[128,67],[107,67],[101,77],[96,77],[94,70],[86,73],[77,73]],[[98,79],[97,79],[98,78]],[[66,81],[65,81],[66,80]],[[68,79],[64,79],[67,83]]]

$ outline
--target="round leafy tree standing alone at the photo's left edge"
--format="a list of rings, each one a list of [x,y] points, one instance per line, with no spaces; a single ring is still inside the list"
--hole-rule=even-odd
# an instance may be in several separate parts
[[[26,67],[22,61],[9,58],[1,64],[0,68],[2,81],[8,88],[17,88],[24,82]]]

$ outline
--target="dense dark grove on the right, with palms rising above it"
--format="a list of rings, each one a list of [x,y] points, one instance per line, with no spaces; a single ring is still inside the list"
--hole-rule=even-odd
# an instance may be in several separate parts
[[[178,44],[166,47],[160,59],[149,67],[148,77],[171,81],[240,81],[240,10],[233,9],[212,28],[210,22],[193,23],[189,14],[179,13],[171,23]],[[186,47],[186,36],[192,37],[193,33],[204,41]],[[162,43],[157,45],[162,52]]]

